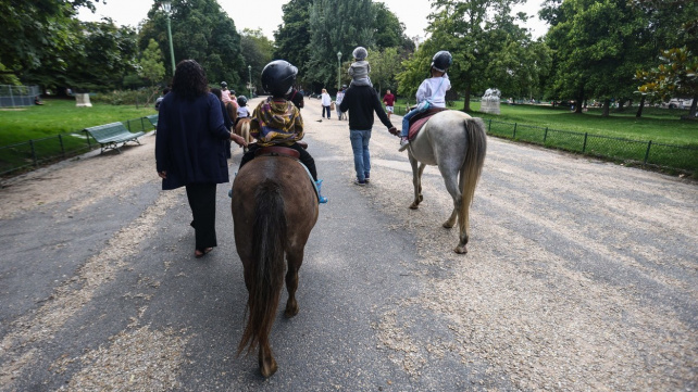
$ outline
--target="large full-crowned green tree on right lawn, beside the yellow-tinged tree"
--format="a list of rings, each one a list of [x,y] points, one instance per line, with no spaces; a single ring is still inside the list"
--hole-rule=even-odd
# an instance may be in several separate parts
[[[554,51],[553,97],[574,98],[577,113],[596,97],[609,115],[611,99],[633,96],[634,68],[649,55],[645,14],[626,0],[564,0],[541,14],[551,24],[546,42]]]

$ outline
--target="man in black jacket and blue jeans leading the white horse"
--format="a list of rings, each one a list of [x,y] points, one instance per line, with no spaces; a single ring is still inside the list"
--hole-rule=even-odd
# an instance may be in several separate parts
[[[371,153],[369,141],[373,128],[373,112],[392,135],[398,130],[383,111],[378,93],[371,86],[349,86],[339,104],[341,112],[349,111],[349,139],[353,150],[353,167],[357,170],[354,184],[365,185],[371,178]]]

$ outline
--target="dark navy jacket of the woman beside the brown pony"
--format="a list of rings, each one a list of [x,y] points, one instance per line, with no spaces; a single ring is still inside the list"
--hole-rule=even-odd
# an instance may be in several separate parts
[[[160,104],[155,134],[158,172],[166,172],[162,189],[189,184],[228,181],[225,159],[225,129],[219,99],[207,93],[192,101],[170,92]]]

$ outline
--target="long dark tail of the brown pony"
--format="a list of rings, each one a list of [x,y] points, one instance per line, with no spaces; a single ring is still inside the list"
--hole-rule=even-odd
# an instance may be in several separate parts
[[[249,354],[258,344],[264,344],[276,318],[276,308],[284,286],[284,250],[286,249],[286,214],[281,187],[271,180],[263,182],[255,194],[252,233],[253,261],[250,269],[248,318],[238,355],[247,346]]]

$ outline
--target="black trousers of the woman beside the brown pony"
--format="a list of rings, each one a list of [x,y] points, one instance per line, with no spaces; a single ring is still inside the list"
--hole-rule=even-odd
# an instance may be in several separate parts
[[[186,186],[187,199],[194,216],[196,249],[217,246],[215,237],[215,184]]]

